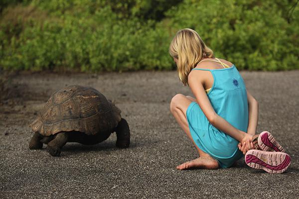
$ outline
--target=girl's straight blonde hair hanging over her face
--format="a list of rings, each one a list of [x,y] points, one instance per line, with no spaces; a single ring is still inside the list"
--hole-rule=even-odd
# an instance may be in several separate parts
[[[177,31],[169,46],[171,57],[178,59],[177,72],[180,81],[186,86],[190,71],[204,58],[214,58],[198,33],[185,28]]]

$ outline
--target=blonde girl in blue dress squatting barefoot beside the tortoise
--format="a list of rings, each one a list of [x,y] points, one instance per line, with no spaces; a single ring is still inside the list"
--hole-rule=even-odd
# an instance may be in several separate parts
[[[170,111],[199,153],[199,158],[176,168],[226,168],[248,150],[257,151],[251,149],[257,144],[252,137],[258,102],[246,90],[234,64],[215,58],[197,32],[188,28],[176,33],[169,53],[179,79],[195,96],[175,95]]]

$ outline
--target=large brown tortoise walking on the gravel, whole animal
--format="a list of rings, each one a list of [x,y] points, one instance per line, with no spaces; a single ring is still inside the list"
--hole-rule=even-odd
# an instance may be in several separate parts
[[[30,124],[34,135],[29,149],[47,144],[52,156],[59,156],[67,142],[92,145],[116,132],[116,146],[130,145],[130,129],[121,110],[91,87],[71,85],[56,91]]]

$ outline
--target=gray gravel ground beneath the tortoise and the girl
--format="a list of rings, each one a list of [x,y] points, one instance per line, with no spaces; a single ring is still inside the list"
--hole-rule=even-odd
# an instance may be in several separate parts
[[[299,71],[241,75],[259,101],[258,132],[271,131],[292,157],[285,173],[254,170],[244,159],[228,169],[177,171],[197,153],[169,112],[175,94],[191,95],[175,71],[22,73],[0,103],[0,198],[298,199]],[[116,101],[130,124],[130,148],[116,148],[112,134],[93,146],[67,143],[60,157],[28,149],[29,123],[52,92],[71,84]]]

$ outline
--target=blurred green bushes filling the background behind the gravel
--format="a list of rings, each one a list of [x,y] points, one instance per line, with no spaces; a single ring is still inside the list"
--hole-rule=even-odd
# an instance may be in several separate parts
[[[299,69],[298,0],[1,0],[0,69],[172,70],[196,30],[238,69]]]

